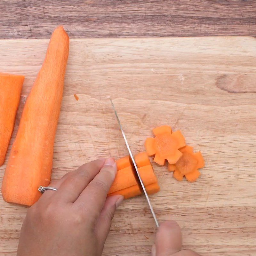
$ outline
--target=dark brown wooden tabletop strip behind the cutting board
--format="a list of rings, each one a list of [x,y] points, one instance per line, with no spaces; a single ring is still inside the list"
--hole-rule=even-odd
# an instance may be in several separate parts
[[[254,0],[0,0],[0,38],[256,36]]]

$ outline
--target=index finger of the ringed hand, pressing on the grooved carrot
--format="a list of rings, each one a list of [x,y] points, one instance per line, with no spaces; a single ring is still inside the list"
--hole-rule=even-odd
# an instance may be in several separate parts
[[[117,166],[115,160],[110,157],[106,159],[104,166],[95,178],[88,184],[74,204],[84,207],[86,203],[87,210],[92,217],[97,217],[106,201],[109,188],[115,180]]]

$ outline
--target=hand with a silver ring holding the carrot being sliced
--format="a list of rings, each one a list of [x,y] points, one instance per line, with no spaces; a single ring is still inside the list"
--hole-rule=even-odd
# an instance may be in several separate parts
[[[17,256],[100,256],[123,196],[108,190],[117,172],[113,158],[97,159],[49,186],[23,222]]]

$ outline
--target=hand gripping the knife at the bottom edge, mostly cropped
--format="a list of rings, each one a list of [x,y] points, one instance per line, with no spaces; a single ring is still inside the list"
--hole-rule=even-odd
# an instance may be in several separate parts
[[[152,256],[200,256],[191,250],[182,250],[181,230],[177,222],[168,220],[160,224]]]

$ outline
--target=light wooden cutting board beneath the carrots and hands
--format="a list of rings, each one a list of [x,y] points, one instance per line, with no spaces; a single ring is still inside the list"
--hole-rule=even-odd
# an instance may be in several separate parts
[[[0,72],[26,76],[13,137],[47,43],[0,41]],[[169,124],[205,158],[195,183],[153,163],[161,191],[150,197],[159,221],[176,220],[184,247],[205,256],[256,255],[255,81],[251,37],[71,40],[52,179],[96,157],[127,154],[111,96],[134,153],[152,128]],[[0,197],[0,255],[16,255],[26,212]],[[155,232],[145,198],[126,200],[103,255],[150,255]]]

